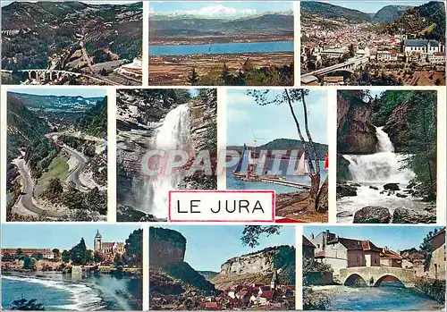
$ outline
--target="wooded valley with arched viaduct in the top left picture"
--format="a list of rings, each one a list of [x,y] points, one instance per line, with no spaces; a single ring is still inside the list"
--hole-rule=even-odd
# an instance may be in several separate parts
[[[142,4],[13,2],[2,8],[7,84],[141,84]]]

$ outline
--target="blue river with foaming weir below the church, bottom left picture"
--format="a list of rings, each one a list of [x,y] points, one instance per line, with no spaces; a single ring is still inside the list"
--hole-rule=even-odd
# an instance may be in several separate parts
[[[118,279],[100,274],[77,279],[72,274],[2,274],[2,307],[11,309],[13,300],[37,299],[46,310],[133,310],[128,299],[117,294],[126,291],[142,297],[138,279]]]

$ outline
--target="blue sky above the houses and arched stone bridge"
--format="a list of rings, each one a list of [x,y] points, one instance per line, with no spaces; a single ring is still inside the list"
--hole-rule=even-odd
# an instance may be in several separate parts
[[[418,249],[426,234],[439,226],[304,226],[304,235],[310,239],[310,234],[317,235],[329,230],[336,235],[348,239],[371,240],[375,246],[397,251]]]

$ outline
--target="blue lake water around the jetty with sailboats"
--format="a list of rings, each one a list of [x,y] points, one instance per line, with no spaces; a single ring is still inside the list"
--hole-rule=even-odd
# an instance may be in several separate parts
[[[274,166],[274,162],[275,161],[273,159],[267,159],[266,160],[266,168],[271,170]],[[298,162],[298,160],[297,160],[297,162]],[[287,181],[294,181],[294,182],[310,185],[310,178],[308,176],[297,176],[297,175],[290,174],[290,173],[293,173],[293,171],[288,172],[289,163],[290,163],[290,161],[287,159],[283,159],[280,161],[278,175],[285,176]],[[325,162],[320,161],[319,164],[320,164],[321,183],[323,183],[323,182],[325,182],[325,179],[327,177],[327,172],[325,172],[325,170],[324,170]],[[290,192],[296,192],[296,191],[301,190],[301,189],[295,189],[295,188],[291,188],[291,187],[287,187],[287,186],[283,186],[283,185],[266,183],[266,182],[261,182],[261,181],[252,181],[252,182],[241,181],[240,179],[232,176],[232,172],[234,171],[235,167],[236,166],[227,168],[227,171],[226,171],[226,188],[227,188],[227,190],[274,190],[277,194],[290,193]],[[241,166],[241,171],[242,172],[247,171],[247,168],[248,168],[248,160],[247,160],[247,157],[244,157],[244,160],[243,160],[243,163]]]

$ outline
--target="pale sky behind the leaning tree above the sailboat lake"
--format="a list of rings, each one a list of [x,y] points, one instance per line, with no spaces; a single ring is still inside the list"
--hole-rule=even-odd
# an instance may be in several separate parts
[[[282,89],[271,90],[272,95]],[[247,90],[227,91],[227,146],[263,145],[274,139],[299,139],[289,105],[257,105]],[[327,92],[310,90],[308,97],[308,121],[312,139],[327,144]],[[304,130],[304,114],[301,103],[295,103],[295,114]],[[306,138],[306,135],[305,135]],[[307,139],[306,139],[307,140]]]

